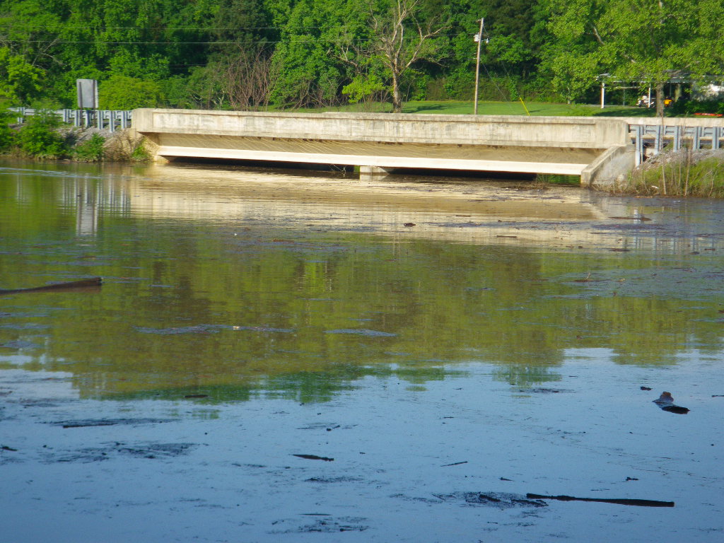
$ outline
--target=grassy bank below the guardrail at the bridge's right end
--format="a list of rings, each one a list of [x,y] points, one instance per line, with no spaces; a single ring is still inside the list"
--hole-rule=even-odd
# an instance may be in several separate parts
[[[724,198],[724,149],[660,153],[634,169],[615,192]]]

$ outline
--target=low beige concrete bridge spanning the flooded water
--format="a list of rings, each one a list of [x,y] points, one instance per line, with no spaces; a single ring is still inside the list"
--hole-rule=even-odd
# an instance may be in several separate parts
[[[136,109],[156,159],[563,174],[605,185],[635,162],[625,119]]]

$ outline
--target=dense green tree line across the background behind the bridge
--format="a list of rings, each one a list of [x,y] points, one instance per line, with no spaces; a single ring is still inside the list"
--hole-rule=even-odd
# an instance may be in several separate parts
[[[482,99],[724,74],[721,0],[0,0],[0,98],[73,107],[84,78],[104,109],[399,111],[473,96],[481,18]]]

